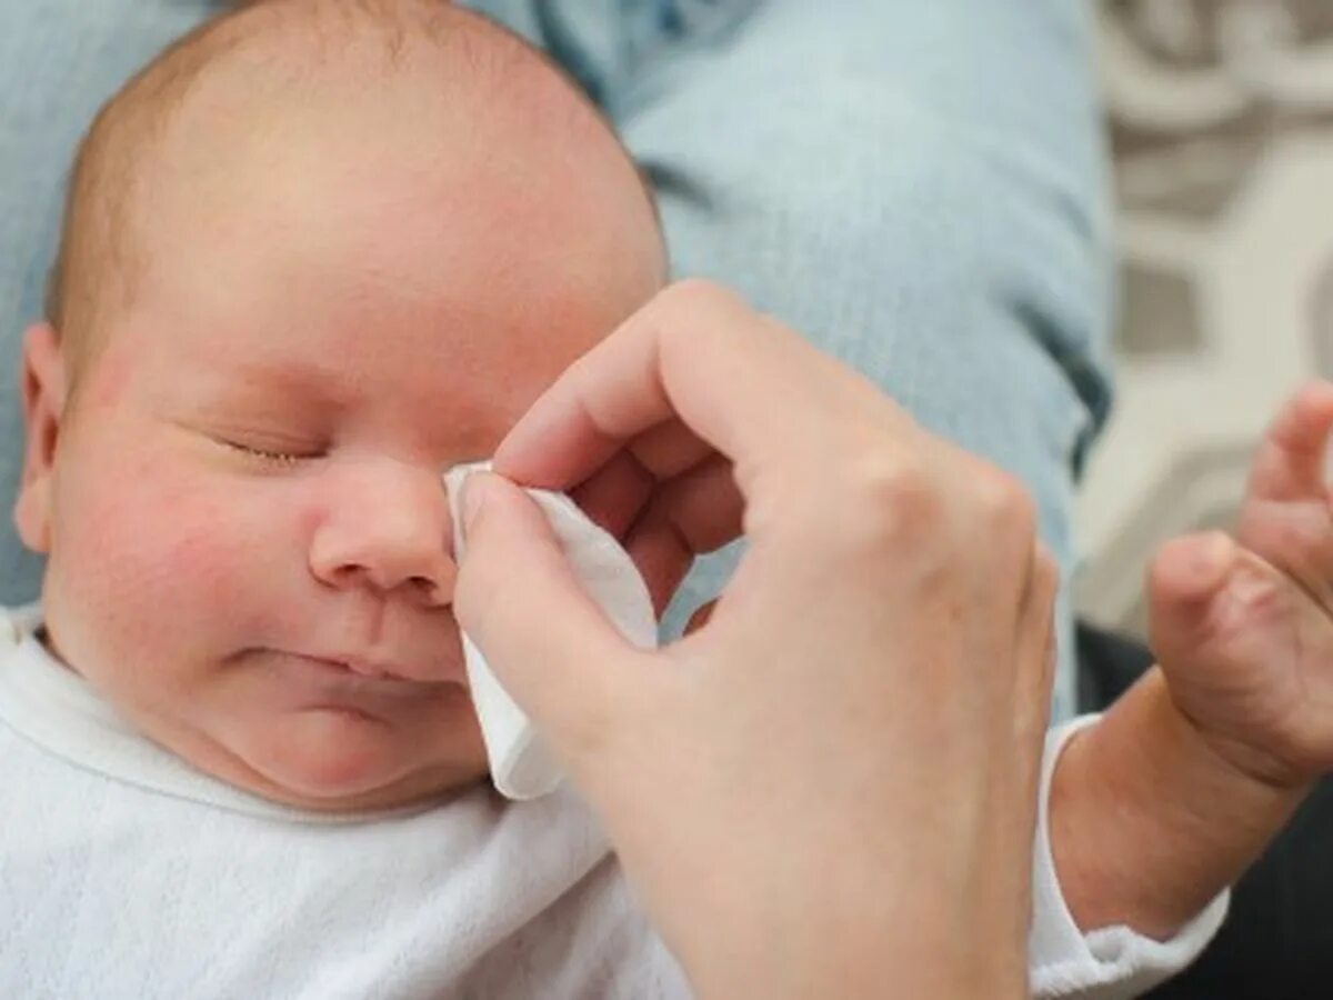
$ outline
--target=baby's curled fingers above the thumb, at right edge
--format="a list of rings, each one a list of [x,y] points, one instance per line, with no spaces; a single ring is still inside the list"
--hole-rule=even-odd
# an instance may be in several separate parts
[[[1273,421],[1250,469],[1250,500],[1325,499],[1325,448],[1333,428],[1333,384],[1314,381]]]

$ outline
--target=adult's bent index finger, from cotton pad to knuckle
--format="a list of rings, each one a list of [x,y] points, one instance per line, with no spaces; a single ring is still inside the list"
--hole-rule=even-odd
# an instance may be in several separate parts
[[[685,281],[557,379],[500,444],[495,469],[525,485],[567,489],[674,420],[738,467],[798,465],[818,457],[812,421],[849,391],[868,388],[730,292]]]

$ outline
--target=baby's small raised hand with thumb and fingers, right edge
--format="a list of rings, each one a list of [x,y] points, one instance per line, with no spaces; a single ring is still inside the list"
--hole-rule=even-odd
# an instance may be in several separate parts
[[[1149,581],[1152,644],[1176,707],[1250,777],[1333,771],[1333,384],[1300,392],[1250,471],[1236,539],[1168,543]]]

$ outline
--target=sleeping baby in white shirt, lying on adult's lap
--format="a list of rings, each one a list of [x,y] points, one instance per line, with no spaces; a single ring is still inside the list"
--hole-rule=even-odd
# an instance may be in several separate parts
[[[25,341],[15,519],[48,568],[0,643],[0,993],[688,995],[580,801],[484,784],[440,479],[665,272],[651,196],[588,101],[447,4],[251,5],[108,104]],[[1309,461],[1329,423],[1306,405],[1265,468]],[[1300,491],[1257,480],[1260,541],[1314,503],[1292,475]],[[1244,555],[1305,600],[1280,572],[1298,553],[1270,549]],[[1228,592],[1196,556],[1164,563],[1186,583],[1158,587],[1162,635]],[[1212,589],[1176,600],[1190,588]],[[1274,615],[1229,628],[1177,641],[1198,669],[1170,672],[1193,677],[1186,704],[1234,715],[1181,716],[1170,748],[1234,767],[1222,792],[1184,781],[1125,820],[1096,780],[1117,755],[1133,771],[1138,736],[1161,745],[1152,719],[1176,709],[1156,673],[1052,736],[1038,992],[1120,996],[1178,969],[1285,816],[1274,791],[1269,825],[1176,824],[1248,805],[1248,781],[1300,785],[1252,760],[1310,763],[1306,733],[1245,756],[1277,732],[1249,721],[1261,705],[1198,696],[1213,664],[1286,641]],[[1170,856],[1145,860],[1145,831],[1216,863],[1161,889]]]

